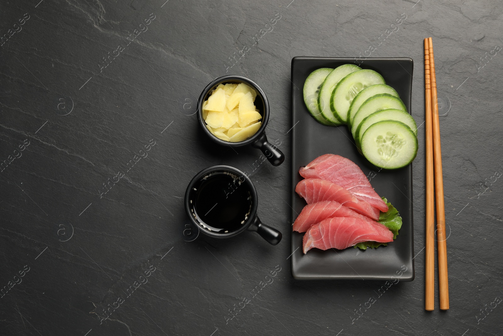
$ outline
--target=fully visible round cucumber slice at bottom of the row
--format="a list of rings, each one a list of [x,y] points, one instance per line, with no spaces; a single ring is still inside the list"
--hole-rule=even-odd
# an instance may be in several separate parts
[[[378,121],[363,133],[362,153],[377,167],[402,168],[417,155],[417,137],[403,122]]]

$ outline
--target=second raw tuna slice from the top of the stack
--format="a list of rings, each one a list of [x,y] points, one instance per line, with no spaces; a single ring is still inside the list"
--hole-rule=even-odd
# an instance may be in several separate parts
[[[359,200],[351,192],[336,183],[319,178],[306,178],[297,184],[295,191],[306,200],[307,204],[322,200],[335,200],[354,212],[375,221],[379,220],[379,209],[372,207],[364,200]]]

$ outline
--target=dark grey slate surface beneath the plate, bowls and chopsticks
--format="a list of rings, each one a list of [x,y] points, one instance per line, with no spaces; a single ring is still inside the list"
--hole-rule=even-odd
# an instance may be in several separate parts
[[[500,2],[35,0],[3,1],[0,13],[1,34],[12,29],[0,50],[0,155],[21,155],[0,174],[0,286],[21,281],[1,298],[1,334],[501,334]],[[129,43],[150,13],[148,30]],[[373,49],[371,57],[411,57],[412,115],[421,124],[428,36],[443,114],[451,309],[436,301],[434,312],[424,310],[424,125],[413,164],[415,280],[380,297],[382,282],[294,281],[291,58]],[[100,71],[108,52],[119,55]],[[201,132],[197,98],[226,73],[267,93],[267,135],[287,154],[282,166],[254,168],[260,151],[236,153]],[[127,168],[135,155],[148,156]],[[278,246],[251,232],[186,241],[185,187],[214,164],[251,174],[261,220],[285,234]]]

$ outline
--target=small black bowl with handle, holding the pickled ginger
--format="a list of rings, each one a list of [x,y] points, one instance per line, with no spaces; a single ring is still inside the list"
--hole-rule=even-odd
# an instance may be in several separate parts
[[[257,92],[257,97],[255,98],[255,106],[259,110],[259,113],[262,115],[262,125],[260,126],[259,130],[248,139],[237,143],[224,141],[215,137],[208,130],[208,128],[206,128],[206,122],[203,119],[204,101],[209,98],[209,96],[211,95],[211,91],[213,91],[219,84],[228,84],[228,83],[229,84],[245,83],[249,85],[251,88],[253,88]],[[206,88],[199,96],[199,100],[197,102],[197,119],[199,120],[199,124],[201,125],[203,132],[205,132],[206,135],[210,137],[211,140],[213,140],[215,143],[219,145],[230,146],[230,147],[242,147],[251,145],[251,147],[260,149],[273,166],[279,166],[280,164],[283,163],[283,161],[285,161],[285,155],[276,146],[272,145],[270,142],[267,141],[265,129],[269,121],[269,101],[267,100],[266,94],[254,81],[251,81],[246,77],[233,76],[233,75],[223,76],[217,78],[216,80],[208,84],[208,86],[206,86]]]

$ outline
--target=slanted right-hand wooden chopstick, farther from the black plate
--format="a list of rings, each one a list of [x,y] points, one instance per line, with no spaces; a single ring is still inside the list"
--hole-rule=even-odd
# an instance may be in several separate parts
[[[430,48],[430,73],[432,91],[433,159],[435,166],[435,200],[437,206],[437,249],[439,266],[440,309],[449,309],[449,282],[447,277],[447,244],[445,237],[444,182],[442,176],[442,152],[440,149],[440,122],[437,102],[437,80],[433,41],[428,38]]]

